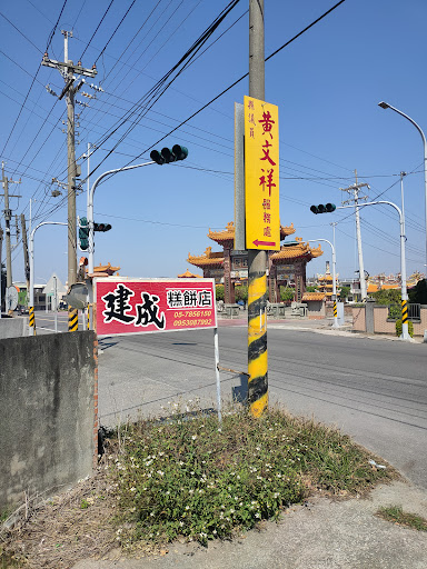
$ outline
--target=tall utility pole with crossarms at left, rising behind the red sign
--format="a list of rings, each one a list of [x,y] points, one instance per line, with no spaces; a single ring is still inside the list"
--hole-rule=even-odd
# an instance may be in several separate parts
[[[66,81],[59,100],[66,97],[67,101],[67,168],[68,168],[68,286],[77,282],[77,230],[76,230],[76,150],[75,150],[75,94],[85,84],[85,79],[75,86],[76,74],[95,77],[96,66],[92,69],[82,67],[81,61],[73,64],[68,59],[68,38],[72,38],[72,31],[61,30],[63,34],[63,59],[56,61],[49,59],[46,52],[41,61],[42,66],[58,69]]]

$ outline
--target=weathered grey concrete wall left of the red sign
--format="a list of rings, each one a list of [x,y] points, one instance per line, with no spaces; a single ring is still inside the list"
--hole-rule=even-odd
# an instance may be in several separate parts
[[[96,356],[92,331],[0,340],[0,510],[92,472]]]

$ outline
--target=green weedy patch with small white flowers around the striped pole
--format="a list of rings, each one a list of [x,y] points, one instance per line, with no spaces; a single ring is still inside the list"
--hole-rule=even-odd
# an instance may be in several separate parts
[[[118,492],[117,540],[207,543],[277,519],[314,489],[366,491],[390,478],[349,437],[270,409],[141,421],[119,432],[110,472]]]

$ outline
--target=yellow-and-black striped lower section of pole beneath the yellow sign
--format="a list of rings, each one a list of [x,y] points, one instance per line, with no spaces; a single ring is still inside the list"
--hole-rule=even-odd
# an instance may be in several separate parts
[[[248,402],[251,415],[260,417],[268,406],[267,253],[249,250],[248,256]]]

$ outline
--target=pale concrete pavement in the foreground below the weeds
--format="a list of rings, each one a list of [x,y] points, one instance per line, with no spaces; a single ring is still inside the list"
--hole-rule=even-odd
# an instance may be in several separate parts
[[[427,517],[427,493],[395,482],[366,499],[316,497],[232,541],[171,543],[168,552],[141,559],[83,560],[72,569],[425,569],[427,532],[375,516],[380,506],[400,505]]]

